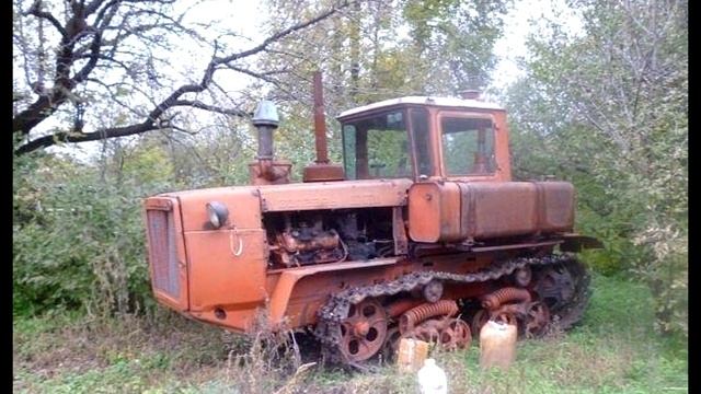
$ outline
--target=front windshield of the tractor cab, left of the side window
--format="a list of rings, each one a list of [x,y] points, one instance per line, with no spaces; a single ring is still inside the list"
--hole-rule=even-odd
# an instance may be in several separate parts
[[[343,124],[343,151],[349,179],[411,177],[406,112],[395,109]]]

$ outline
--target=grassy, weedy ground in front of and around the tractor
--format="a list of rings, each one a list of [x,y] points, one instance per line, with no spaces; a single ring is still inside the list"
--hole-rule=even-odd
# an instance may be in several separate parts
[[[478,344],[435,352],[450,393],[688,392],[687,344],[653,332],[644,286],[595,276],[581,325],[518,344],[508,371],[481,371]],[[95,320],[69,313],[20,318],[15,392],[23,393],[415,393],[392,366],[372,373],[295,373],[250,340],[166,311],[150,318]]]

